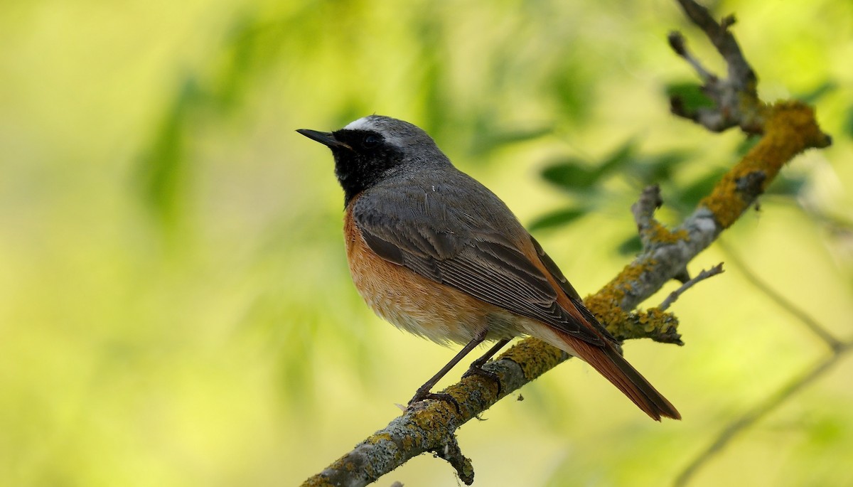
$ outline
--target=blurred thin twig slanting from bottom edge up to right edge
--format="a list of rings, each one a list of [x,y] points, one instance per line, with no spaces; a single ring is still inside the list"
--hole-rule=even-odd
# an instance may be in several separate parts
[[[834,349],[831,356],[819,362],[807,373],[803,374],[796,380],[792,380],[779,391],[776,391],[773,396],[769,397],[763,403],[758,404],[754,409],[751,409],[751,411],[748,411],[745,415],[740,416],[738,419],[732,421],[728,426],[723,428],[717,435],[717,438],[715,438],[707,448],[702,450],[702,452],[699,453],[699,455],[697,455],[696,458],[684,468],[684,470],[682,470],[682,473],[678,475],[673,483],[674,487],[683,487],[684,485],[687,485],[696,472],[699,471],[699,468],[710,461],[714,455],[719,453],[719,451],[734,440],[735,437],[737,437],[741,432],[744,432],[746,428],[752,426],[758,420],[761,420],[764,416],[768,415],[781,403],[784,403],[787,399],[794,396],[799,391],[802,391],[805,386],[808,386],[820,378],[821,375],[826,373],[830,367],[838,362],[846,352],[850,351],[851,347],[853,347],[853,340],[839,342],[838,348]]]

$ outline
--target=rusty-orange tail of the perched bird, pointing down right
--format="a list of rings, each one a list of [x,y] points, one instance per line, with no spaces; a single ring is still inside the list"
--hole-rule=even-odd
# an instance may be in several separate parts
[[[606,342],[604,347],[598,347],[570,337],[564,336],[564,339],[577,351],[579,357],[610,380],[613,386],[617,386],[619,391],[634,401],[637,407],[653,420],[659,421],[661,417],[682,419],[675,406],[649,384],[611,343]]]

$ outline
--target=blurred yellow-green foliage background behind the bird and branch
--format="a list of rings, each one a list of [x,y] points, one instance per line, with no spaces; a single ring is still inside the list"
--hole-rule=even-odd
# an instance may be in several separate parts
[[[853,336],[853,4],[712,7],[737,14],[763,98],[815,103],[834,145],[693,262],[728,271],[672,309],[686,346],[626,346],[683,421],[569,362],[461,428],[478,485],[670,484],[829,357],[746,272]],[[294,129],[421,125],[595,292],[635,252],[645,184],[677,223],[750,143],[669,115],[694,79],[671,29],[721,70],[664,0],[4,2],[0,484],[299,484],[452,356],[361,302],[332,159]],[[839,360],[690,484],[853,484],[851,374]],[[430,455],[395,480],[457,484]]]

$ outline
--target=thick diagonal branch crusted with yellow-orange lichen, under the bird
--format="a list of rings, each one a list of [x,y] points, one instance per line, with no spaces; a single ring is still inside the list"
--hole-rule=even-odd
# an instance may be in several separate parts
[[[692,0],[678,3],[717,47],[728,65],[728,78],[707,72],[688,53],[681,34],[670,35],[670,45],[676,53],[698,67],[703,88],[715,103],[701,113],[678,113],[678,101],[673,101],[673,111],[710,130],[739,126],[763,137],[676,228],[667,229],[654,219],[659,195],[644,194],[637,202],[633,210],[643,252],[601,291],[585,299],[589,309],[619,339],[653,338],[681,343],[675,316],[656,309],[634,311],[635,308],[671,279],[688,281],[688,263],[755,202],[788,160],[808,148],[823,148],[830,143],[818,127],[815,113],[804,103],[782,101],[767,105],[757,98],[757,78],[728,32],[734,18],[717,23]],[[426,452],[448,459],[461,480],[471,484],[473,468],[456,444],[456,428],[567,358],[566,353],[540,340],[525,339],[485,365],[500,378],[500,389],[479,375],[463,378],[444,390],[456,398],[458,412],[453,405],[440,401],[417,403],[303,485],[366,485]]]

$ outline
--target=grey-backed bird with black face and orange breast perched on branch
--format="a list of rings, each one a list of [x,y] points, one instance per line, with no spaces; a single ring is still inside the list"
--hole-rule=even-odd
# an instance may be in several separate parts
[[[332,132],[297,132],[334,156],[346,257],[364,301],[397,328],[465,345],[410,405],[452,399],[432,386],[484,341],[496,343],[469,373],[496,378],[483,364],[511,339],[533,336],[589,363],[653,420],[681,419],[508,206],[426,131],[373,114]]]

